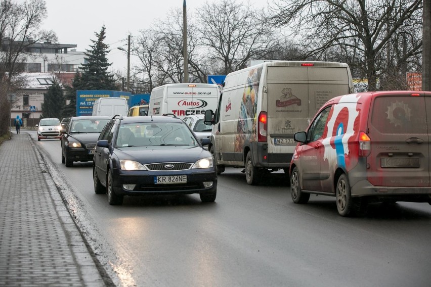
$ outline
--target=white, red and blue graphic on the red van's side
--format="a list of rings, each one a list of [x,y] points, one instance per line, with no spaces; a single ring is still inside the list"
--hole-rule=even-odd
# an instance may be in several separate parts
[[[327,126],[323,132],[322,145],[325,147],[323,160],[327,164],[335,163],[345,169],[350,169],[351,159],[358,158],[358,149],[349,146],[349,137],[358,133],[355,131],[359,119],[359,107],[357,103],[359,97],[356,94],[349,94],[341,97],[338,103],[352,103],[351,105],[333,105],[328,115]],[[330,147],[330,148],[328,148]]]

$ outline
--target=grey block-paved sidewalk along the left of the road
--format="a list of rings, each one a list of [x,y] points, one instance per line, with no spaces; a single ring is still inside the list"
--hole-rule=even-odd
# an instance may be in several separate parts
[[[0,146],[0,286],[105,286],[26,132]]]

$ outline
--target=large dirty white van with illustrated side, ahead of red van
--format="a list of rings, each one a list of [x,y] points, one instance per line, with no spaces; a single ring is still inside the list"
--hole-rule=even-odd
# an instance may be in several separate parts
[[[248,184],[267,172],[287,174],[293,134],[329,99],[353,91],[344,63],[275,61],[228,74],[215,114],[205,113],[205,123],[213,124],[209,150],[217,172],[245,167]]]

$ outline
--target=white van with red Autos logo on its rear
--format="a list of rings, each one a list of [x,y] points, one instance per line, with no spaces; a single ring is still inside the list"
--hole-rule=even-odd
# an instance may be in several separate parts
[[[179,118],[204,114],[217,108],[219,95],[215,84],[166,84],[151,91],[148,112],[153,116],[174,114]]]

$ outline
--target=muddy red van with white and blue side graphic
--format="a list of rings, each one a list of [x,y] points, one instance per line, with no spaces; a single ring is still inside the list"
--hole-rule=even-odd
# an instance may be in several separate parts
[[[294,134],[292,200],[307,203],[310,194],[334,196],[341,216],[361,214],[369,202],[431,204],[430,133],[431,92],[333,98],[307,131]]]

